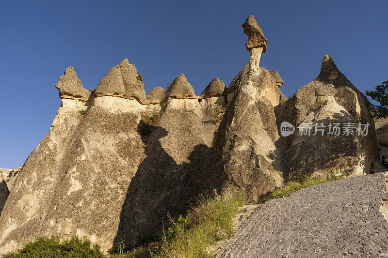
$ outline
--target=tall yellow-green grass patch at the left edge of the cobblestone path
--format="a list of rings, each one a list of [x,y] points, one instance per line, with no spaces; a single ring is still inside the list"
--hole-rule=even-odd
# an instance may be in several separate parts
[[[186,216],[170,218],[170,227],[163,230],[162,240],[131,252],[120,252],[114,258],[211,258],[206,247],[229,238],[233,232],[233,216],[246,203],[242,194],[204,198]],[[124,248],[121,248],[123,250]]]

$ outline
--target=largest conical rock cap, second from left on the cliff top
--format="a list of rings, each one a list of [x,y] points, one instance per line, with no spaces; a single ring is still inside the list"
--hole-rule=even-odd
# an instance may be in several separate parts
[[[96,96],[121,96],[146,102],[146,91],[134,64],[124,59],[98,83]]]

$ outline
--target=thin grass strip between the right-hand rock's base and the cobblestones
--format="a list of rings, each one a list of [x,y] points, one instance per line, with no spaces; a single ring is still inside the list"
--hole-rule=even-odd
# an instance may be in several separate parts
[[[342,179],[342,177],[337,178]],[[268,196],[261,198],[258,201],[258,204],[264,203],[266,201],[283,197],[285,195],[289,195],[299,189],[306,188],[311,185],[316,185],[324,182],[330,182],[337,180],[334,176],[330,176],[328,178],[298,178],[297,180],[293,180],[288,182],[285,186],[280,187],[279,189],[271,192]]]

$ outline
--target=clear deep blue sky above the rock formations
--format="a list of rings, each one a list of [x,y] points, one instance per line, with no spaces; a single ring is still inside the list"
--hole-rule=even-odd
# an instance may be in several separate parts
[[[61,103],[54,85],[73,66],[86,89],[124,58],[146,92],[186,75],[199,95],[248,63],[242,23],[268,40],[260,66],[286,96],[313,80],[325,54],[362,92],[388,79],[387,0],[0,1],[0,167],[22,166]]]

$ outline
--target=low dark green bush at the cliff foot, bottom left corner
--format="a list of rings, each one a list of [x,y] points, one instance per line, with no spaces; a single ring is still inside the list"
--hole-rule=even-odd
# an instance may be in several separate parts
[[[98,244],[77,236],[60,243],[59,237],[41,237],[27,243],[23,249],[8,253],[3,258],[103,258]]]

